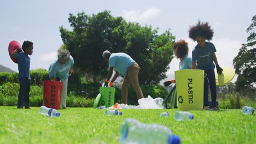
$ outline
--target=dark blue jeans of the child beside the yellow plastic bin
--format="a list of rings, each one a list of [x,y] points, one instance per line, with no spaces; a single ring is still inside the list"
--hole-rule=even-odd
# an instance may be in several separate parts
[[[210,85],[212,107],[216,107],[217,90],[216,90],[216,79],[214,69],[205,70],[205,84],[203,87],[203,106],[208,105],[208,87]]]

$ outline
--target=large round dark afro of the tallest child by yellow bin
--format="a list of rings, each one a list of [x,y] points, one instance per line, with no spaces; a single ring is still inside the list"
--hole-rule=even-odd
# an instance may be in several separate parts
[[[208,22],[203,23],[198,21],[195,26],[190,26],[189,28],[189,38],[196,41],[196,37],[201,36],[207,40],[211,40],[213,37],[213,29],[208,25]]]

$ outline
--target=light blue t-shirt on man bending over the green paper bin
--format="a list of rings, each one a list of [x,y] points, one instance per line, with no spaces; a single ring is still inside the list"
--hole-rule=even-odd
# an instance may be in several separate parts
[[[127,68],[129,68],[135,61],[126,53],[112,53],[108,60],[109,68],[114,67],[114,70],[119,74],[126,76]]]

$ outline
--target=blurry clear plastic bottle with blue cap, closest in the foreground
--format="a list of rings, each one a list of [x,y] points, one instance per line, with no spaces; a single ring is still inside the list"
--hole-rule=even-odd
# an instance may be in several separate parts
[[[120,143],[180,143],[172,131],[158,124],[146,124],[137,119],[126,118],[119,127]]]

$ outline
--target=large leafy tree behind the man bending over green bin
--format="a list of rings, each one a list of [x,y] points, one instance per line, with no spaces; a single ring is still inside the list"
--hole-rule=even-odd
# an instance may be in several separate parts
[[[68,21],[73,29],[60,27],[62,41],[74,57],[74,67],[91,75],[94,81],[107,75],[104,50],[130,55],[141,66],[140,83],[158,83],[166,77],[173,58],[174,36],[170,30],[158,35],[158,29],[126,22],[107,10],[92,16],[84,12],[69,14]]]

